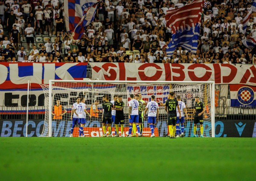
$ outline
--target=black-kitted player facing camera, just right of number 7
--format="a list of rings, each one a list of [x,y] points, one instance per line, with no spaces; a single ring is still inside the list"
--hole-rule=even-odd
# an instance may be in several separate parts
[[[113,110],[116,110],[116,117],[115,117],[115,127],[116,127],[116,135],[119,136],[119,125],[121,125],[121,137],[124,137],[124,102],[123,97],[118,96],[117,100],[114,103],[115,108]]]

